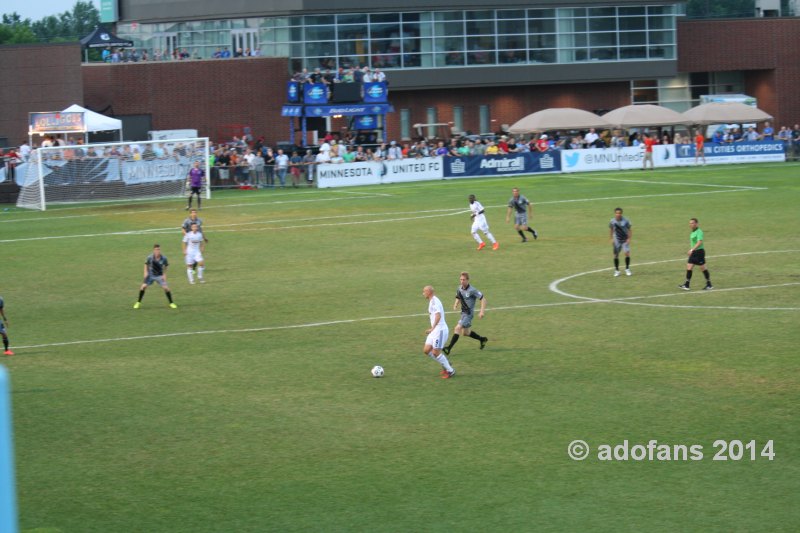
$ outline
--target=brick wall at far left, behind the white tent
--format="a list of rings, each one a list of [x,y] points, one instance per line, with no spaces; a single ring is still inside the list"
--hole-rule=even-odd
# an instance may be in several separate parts
[[[78,44],[0,46],[0,137],[28,138],[28,113],[83,103]],[[36,142],[36,141],[34,141]]]

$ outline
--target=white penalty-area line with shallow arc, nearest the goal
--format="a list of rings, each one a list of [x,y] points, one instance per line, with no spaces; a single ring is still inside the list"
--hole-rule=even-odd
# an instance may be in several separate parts
[[[603,197],[594,197],[594,198],[572,198],[568,200],[549,200],[546,202],[536,202],[533,205],[541,206],[541,205],[549,205],[549,204],[566,204],[566,203],[578,203],[578,202],[596,202],[596,201],[608,201],[608,200],[629,200],[632,198],[663,198],[668,196],[695,196],[700,194],[722,194],[722,193],[731,193],[731,192],[746,192],[751,189],[726,189],[722,191],[700,191],[700,192],[683,192],[683,193],[664,193],[664,194],[639,194],[639,195],[629,195],[629,196],[603,196]],[[356,197],[354,199],[362,199],[367,197]],[[325,199],[324,201],[329,201],[330,199]],[[319,200],[314,200],[319,201]],[[274,204],[275,202],[269,202]],[[288,203],[288,202],[287,202]],[[245,205],[254,205],[254,204],[245,204]],[[229,206],[230,207],[230,206]],[[507,205],[493,205],[488,206],[486,209],[498,209],[503,208],[505,209]],[[403,217],[403,218],[380,218],[377,220],[369,220],[369,221],[353,221],[353,222],[340,222],[340,223],[327,223],[327,224],[318,224],[318,223],[311,223],[311,224],[295,224],[290,226],[277,226],[277,227],[269,227],[269,228],[253,228],[253,229],[242,229],[242,230],[216,230],[216,228],[220,227],[230,227],[236,226],[236,224],[227,224],[227,225],[220,225],[220,226],[207,226],[208,229],[214,228],[215,231],[274,231],[274,230],[288,230],[288,229],[301,229],[307,227],[329,227],[329,226],[350,226],[350,225],[357,225],[357,224],[383,224],[386,222],[400,222],[400,221],[408,221],[408,220],[419,220],[419,219],[426,219],[426,218],[436,218],[436,217],[444,217],[444,216],[451,216],[451,215],[458,215],[467,213],[468,210],[466,209],[439,209],[439,210],[428,210],[428,211],[416,211],[416,213],[439,213],[439,214],[427,214],[423,216],[416,216],[416,217]],[[375,213],[374,216],[395,216],[397,214],[408,214],[408,212],[386,212],[386,213]],[[358,216],[371,216],[371,215],[361,215],[358,213],[349,214],[349,215],[338,215],[342,218],[347,217],[358,217]],[[335,217],[334,217],[335,218]],[[323,220],[324,217],[314,217],[310,219],[295,219],[295,221],[302,221],[302,220]],[[54,220],[54,219],[50,219]],[[284,219],[285,220],[285,219]],[[247,223],[241,223],[241,225],[254,225],[254,224],[274,224],[276,221],[251,221]],[[44,240],[57,240],[57,239],[79,239],[79,238],[90,238],[90,237],[107,237],[107,236],[119,236],[119,235],[143,235],[143,234],[168,234],[175,231],[178,231],[178,227],[174,228],[150,228],[150,229],[140,229],[140,230],[129,230],[129,231],[113,231],[113,232],[106,232],[106,233],[86,233],[86,234],[79,234],[79,235],[47,235],[42,237],[23,237],[19,239],[2,239],[0,240],[0,244],[2,243],[13,243],[13,242],[25,242],[25,241],[44,241]]]

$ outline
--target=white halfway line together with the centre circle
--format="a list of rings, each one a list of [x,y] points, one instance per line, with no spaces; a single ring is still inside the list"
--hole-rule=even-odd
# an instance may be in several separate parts
[[[736,254],[726,254],[726,255],[717,255],[713,256],[714,258],[720,257],[735,257],[735,256],[746,256],[746,255],[758,255],[758,254],[774,254],[774,253],[797,253],[800,250],[770,250],[770,251],[763,251],[763,252],[742,252]],[[712,257],[712,256],[709,256]],[[648,263],[639,263],[638,265],[657,265],[661,263],[671,263],[675,261],[684,261],[684,259],[666,259],[663,261],[651,261]],[[567,276],[561,278],[559,280],[554,281],[550,284],[549,288],[551,291],[560,294],[562,296],[567,296],[569,298],[573,298],[571,301],[566,302],[552,302],[552,303],[538,303],[538,304],[520,304],[520,305],[507,305],[507,306],[499,306],[499,307],[489,307],[487,310],[489,311],[515,311],[520,309],[533,309],[533,308],[542,308],[542,307],[561,307],[565,305],[582,305],[582,304],[602,304],[602,303],[611,303],[611,304],[630,304],[630,305],[645,305],[645,306],[656,306],[656,307],[673,307],[673,308],[694,308],[694,309],[724,309],[724,310],[742,310],[742,311],[800,311],[798,307],[742,307],[742,306],[693,306],[693,305],[663,305],[663,304],[648,304],[645,302],[633,302],[632,300],[642,300],[648,298],[664,298],[668,296],[680,296],[686,297],[690,294],[710,294],[705,292],[675,292],[675,293],[665,293],[665,294],[655,294],[652,296],[630,296],[624,298],[609,298],[609,299],[601,299],[601,298],[590,298],[588,296],[579,296],[570,294],[568,292],[562,291],[558,289],[558,285],[563,281],[567,281],[569,279],[573,279],[579,276],[587,275],[587,274],[594,274],[598,272],[606,272],[611,270],[610,268],[602,268],[599,270],[591,270],[586,272],[581,272],[578,274],[573,274],[571,276]],[[793,283],[780,283],[776,285],[752,285],[749,287],[731,287],[726,289],[715,289],[713,292],[725,292],[725,291],[743,291],[743,290],[758,290],[758,289],[769,289],[775,287],[788,287],[788,286],[797,286],[800,285],[800,282],[793,282]],[[446,314],[450,315],[457,315],[458,312],[449,312]],[[405,318],[418,318],[418,317],[425,317],[428,316],[427,313],[412,313],[406,315],[382,315],[382,316],[374,316],[374,317],[362,317],[362,318],[347,318],[347,319],[340,319],[340,320],[328,320],[324,322],[307,322],[303,324],[286,324],[282,326],[262,326],[262,327],[254,327],[254,328],[237,328],[237,329],[214,329],[214,330],[200,330],[200,331],[178,331],[173,333],[159,333],[154,335],[135,335],[130,337],[109,337],[104,339],[84,339],[84,340],[76,340],[76,341],[64,341],[64,342],[52,342],[52,343],[42,343],[42,344],[28,344],[24,346],[14,346],[15,350],[28,350],[28,349],[36,349],[36,348],[52,348],[58,346],[75,346],[75,345],[84,345],[84,344],[100,344],[100,343],[111,343],[111,342],[125,342],[125,341],[137,341],[137,340],[149,340],[149,339],[163,339],[168,337],[186,337],[192,335],[219,335],[219,334],[229,334],[229,333],[261,333],[266,331],[282,331],[282,330],[289,330],[289,329],[304,329],[304,328],[316,328],[316,327],[324,327],[324,326],[335,326],[341,324],[354,324],[359,322],[375,322],[380,320],[398,320],[398,319],[405,319]]]

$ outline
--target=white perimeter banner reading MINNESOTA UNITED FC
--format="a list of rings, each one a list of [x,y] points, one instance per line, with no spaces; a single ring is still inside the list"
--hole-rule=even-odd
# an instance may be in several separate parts
[[[324,163],[317,166],[317,186],[352,187],[403,183],[408,181],[440,180],[444,177],[441,157],[395,159],[357,163]]]

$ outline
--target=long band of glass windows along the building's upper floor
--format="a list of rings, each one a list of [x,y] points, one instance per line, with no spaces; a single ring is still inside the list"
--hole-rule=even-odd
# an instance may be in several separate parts
[[[677,1],[677,0],[676,0]],[[137,47],[261,47],[293,66],[432,68],[673,59],[675,5],[315,13],[158,24],[119,24]],[[174,34],[168,42],[155,35]],[[162,42],[164,41],[164,42]]]

